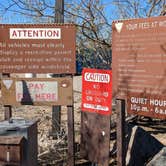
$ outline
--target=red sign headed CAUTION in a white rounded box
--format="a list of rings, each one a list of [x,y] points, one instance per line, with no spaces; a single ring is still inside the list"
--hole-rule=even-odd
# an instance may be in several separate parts
[[[82,73],[82,111],[102,115],[111,114],[112,71],[83,69]]]

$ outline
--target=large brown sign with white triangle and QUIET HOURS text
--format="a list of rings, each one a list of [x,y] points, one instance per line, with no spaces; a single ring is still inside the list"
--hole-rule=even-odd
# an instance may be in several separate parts
[[[113,96],[128,98],[130,113],[166,118],[163,105],[157,111],[152,103],[166,100],[166,17],[115,21],[112,31]]]

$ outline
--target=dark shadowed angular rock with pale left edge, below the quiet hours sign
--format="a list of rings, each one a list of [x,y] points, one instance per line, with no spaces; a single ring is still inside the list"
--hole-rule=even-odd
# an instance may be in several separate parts
[[[127,166],[144,166],[164,145],[138,126],[131,128],[126,155]]]

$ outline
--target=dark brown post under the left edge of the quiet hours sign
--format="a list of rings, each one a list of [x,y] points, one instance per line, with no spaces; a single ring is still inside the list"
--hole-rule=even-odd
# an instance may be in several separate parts
[[[117,99],[117,165],[125,166],[125,100]]]

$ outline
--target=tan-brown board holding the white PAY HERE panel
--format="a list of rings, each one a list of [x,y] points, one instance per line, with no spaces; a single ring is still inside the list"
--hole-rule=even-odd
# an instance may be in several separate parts
[[[72,78],[6,78],[1,81],[4,105],[72,105]]]

